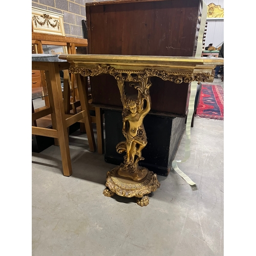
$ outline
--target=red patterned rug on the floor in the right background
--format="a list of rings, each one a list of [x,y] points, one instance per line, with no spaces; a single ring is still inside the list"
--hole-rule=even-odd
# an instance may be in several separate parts
[[[202,84],[201,96],[195,116],[224,120],[224,91],[221,86]]]

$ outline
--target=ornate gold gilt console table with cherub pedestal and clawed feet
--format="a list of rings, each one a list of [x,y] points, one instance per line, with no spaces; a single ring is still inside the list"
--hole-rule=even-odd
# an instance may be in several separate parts
[[[136,197],[138,205],[148,205],[148,194],[160,187],[157,175],[139,166],[139,161],[144,160],[142,150],[147,144],[143,119],[151,109],[150,78],[157,76],[177,84],[213,81],[212,71],[217,65],[223,65],[224,59],[94,54],[60,55],[59,58],[70,62],[69,72],[76,74],[78,82],[81,82],[80,75],[109,74],[115,77],[123,104],[122,134],[126,139],[116,145],[116,150],[126,152],[126,155],[123,163],[106,174],[103,194],[106,197],[114,194]]]

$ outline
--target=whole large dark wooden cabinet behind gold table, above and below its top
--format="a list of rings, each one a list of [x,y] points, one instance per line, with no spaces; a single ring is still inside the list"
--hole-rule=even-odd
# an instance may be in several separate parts
[[[201,0],[88,3],[89,53],[195,56],[201,10]],[[184,117],[189,84],[151,80],[151,113]],[[122,107],[113,77],[91,77],[91,90],[94,104]]]

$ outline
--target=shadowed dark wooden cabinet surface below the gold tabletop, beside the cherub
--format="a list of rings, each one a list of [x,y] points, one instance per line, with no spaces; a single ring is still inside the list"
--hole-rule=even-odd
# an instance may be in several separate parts
[[[113,109],[121,109],[122,103],[116,80],[110,75],[94,76],[91,80],[92,100],[95,105],[110,106]],[[169,116],[185,116],[188,106],[190,84],[176,84],[158,77],[151,78],[153,86],[150,88],[152,114],[165,114]],[[108,88],[106,90],[106,88]],[[129,87],[125,86],[125,89]],[[181,104],[182,102],[182,104]]]

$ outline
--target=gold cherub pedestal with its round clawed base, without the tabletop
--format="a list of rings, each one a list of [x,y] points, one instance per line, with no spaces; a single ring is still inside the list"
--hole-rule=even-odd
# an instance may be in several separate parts
[[[130,81],[129,77],[127,79]],[[157,175],[138,164],[144,160],[141,151],[147,144],[143,119],[151,109],[151,81],[146,77],[130,82],[129,86],[137,92],[137,97],[125,93],[123,79],[117,79],[117,84],[123,104],[122,133],[126,140],[118,143],[116,150],[118,153],[126,152],[126,155],[123,163],[107,173],[103,194],[107,197],[113,194],[135,197],[138,205],[146,206],[149,203],[148,194],[160,187]]]

